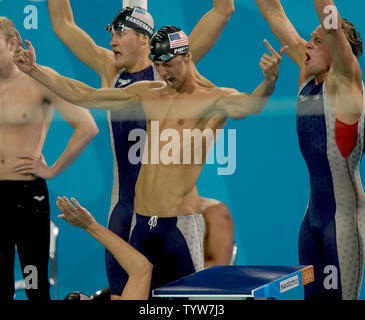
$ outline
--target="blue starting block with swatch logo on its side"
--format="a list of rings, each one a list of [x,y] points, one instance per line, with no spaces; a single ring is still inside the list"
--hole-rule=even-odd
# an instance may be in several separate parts
[[[275,299],[314,281],[313,266],[213,266],[152,291],[153,298]]]

